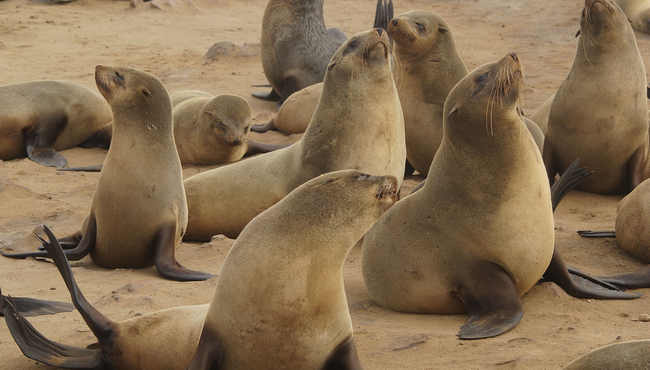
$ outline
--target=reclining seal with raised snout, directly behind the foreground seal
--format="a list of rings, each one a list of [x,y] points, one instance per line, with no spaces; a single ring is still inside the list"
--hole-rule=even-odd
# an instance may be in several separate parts
[[[375,29],[341,46],[327,67],[318,108],[300,141],[186,179],[185,238],[236,238],[253,217],[322,173],[358,169],[393,175],[401,184],[404,121],[388,41],[385,31]]]

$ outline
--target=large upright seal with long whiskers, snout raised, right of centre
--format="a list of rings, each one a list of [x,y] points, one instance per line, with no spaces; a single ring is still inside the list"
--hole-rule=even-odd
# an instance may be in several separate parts
[[[541,155],[516,107],[522,86],[511,54],[452,89],[424,187],[362,242],[364,281],[380,306],[469,312],[462,339],[501,334],[521,318],[519,296],[542,277],[554,246]]]

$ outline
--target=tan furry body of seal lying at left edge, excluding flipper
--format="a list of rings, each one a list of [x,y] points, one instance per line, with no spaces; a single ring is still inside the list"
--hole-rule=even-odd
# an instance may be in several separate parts
[[[35,121],[55,114],[67,117],[54,150],[81,144],[112,119],[98,93],[67,81],[32,81],[0,87],[0,160],[27,157],[25,132]]]

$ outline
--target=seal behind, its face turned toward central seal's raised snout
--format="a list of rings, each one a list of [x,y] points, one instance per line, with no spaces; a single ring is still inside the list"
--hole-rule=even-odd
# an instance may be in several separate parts
[[[436,13],[414,10],[393,18],[395,79],[404,112],[406,157],[427,176],[442,141],[442,112],[451,89],[467,75],[447,22]]]

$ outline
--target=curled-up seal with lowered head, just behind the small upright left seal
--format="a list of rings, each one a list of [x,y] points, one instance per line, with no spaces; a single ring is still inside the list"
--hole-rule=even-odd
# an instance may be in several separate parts
[[[181,163],[230,163],[246,154],[253,112],[244,99],[194,90],[169,96]]]

